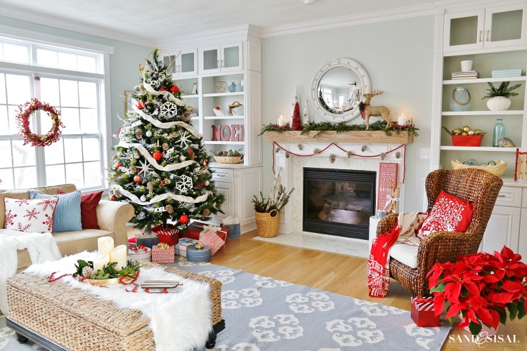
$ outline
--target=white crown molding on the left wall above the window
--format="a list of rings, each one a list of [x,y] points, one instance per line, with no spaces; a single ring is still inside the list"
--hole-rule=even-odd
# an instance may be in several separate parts
[[[34,11],[22,10],[16,6],[0,4],[0,15],[8,18],[14,18],[15,20],[37,23],[37,25],[46,25],[48,27],[65,29],[71,32],[79,32],[96,37],[103,37],[106,39],[124,41],[131,44],[148,47],[155,45],[155,40],[151,38],[138,37],[136,35],[119,32],[117,30],[98,27],[96,25],[89,25],[77,20],[67,20],[65,18],[60,18],[53,15],[43,15],[42,13],[37,13]]]

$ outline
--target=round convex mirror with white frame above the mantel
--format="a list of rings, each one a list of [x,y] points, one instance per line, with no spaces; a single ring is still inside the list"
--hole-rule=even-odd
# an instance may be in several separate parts
[[[370,91],[364,67],[351,58],[337,58],[318,69],[311,84],[311,100],[323,119],[350,121],[360,115],[358,104]]]

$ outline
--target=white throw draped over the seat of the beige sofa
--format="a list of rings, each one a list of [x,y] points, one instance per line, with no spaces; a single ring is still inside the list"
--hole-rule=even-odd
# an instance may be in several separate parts
[[[16,273],[17,250],[27,249],[32,263],[44,263],[62,257],[51,233],[17,232],[0,229],[0,311],[7,310],[6,279]]]

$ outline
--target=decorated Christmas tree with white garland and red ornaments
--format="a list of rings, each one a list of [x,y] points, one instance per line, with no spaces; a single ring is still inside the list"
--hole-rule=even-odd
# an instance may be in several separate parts
[[[110,169],[110,199],[134,206],[131,223],[145,232],[160,223],[183,229],[190,219],[209,220],[224,201],[207,166],[202,135],[188,123],[186,102],[168,68],[157,49],[139,65],[141,83],[115,134],[119,145]]]

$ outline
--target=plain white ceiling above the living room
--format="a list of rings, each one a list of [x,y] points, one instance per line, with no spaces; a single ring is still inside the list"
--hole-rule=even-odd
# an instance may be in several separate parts
[[[79,32],[95,28],[101,37],[127,34],[144,42],[238,25],[251,24],[265,31],[343,16],[434,8],[434,2],[317,0],[305,5],[304,0],[0,0],[0,15],[59,28],[77,25]]]

